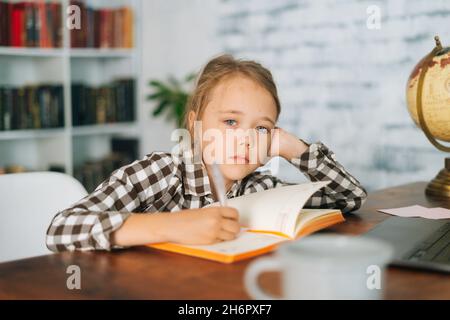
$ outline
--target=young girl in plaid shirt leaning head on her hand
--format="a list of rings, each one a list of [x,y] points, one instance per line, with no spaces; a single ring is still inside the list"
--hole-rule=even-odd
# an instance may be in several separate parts
[[[217,201],[210,164],[219,155],[228,198],[283,186],[278,178],[255,172],[271,157],[280,156],[312,181],[331,180],[309,199],[308,207],[338,208],[344,213],[360,208],[367,194],[358,180],[322,143],[308,144],[276,127],[279,114],[269,70],[230,55],[212,59],[189,99],[185,125],[191,136],[195,125],[201,124],[202,132],[226,138],[196,137],[199,161],[195,161],[196,148],[191,153],[153,152],[115,170],[93,193],[57,213],[47,230],[47,247],[52,251],[111,250],[154,242],[210,244],[235,238],[239,213],[230,207],[207,206]],[[254,154],[267,157],[250,161]]]

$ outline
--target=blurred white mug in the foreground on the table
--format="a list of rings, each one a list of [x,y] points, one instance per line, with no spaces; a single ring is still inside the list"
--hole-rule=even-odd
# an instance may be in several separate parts
[[[373,238],[313,235],[253,261],[244,284],[254,299],[277,299],[261,290],[258,277],[280,271],[283,299],[380,299],[392,254],[392,246]]]

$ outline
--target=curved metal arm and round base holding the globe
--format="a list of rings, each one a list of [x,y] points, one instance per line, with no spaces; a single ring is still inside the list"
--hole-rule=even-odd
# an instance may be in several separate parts
[[[419,81],[417,84],[417,96],[416,96],[416,106],[417,106],[417,115],[419,118],[420,127],[422,128],[422,131],[425,133],[428,140],[435,146],[437,149],[444,151],[444,152],[450,152],[450,147],[447,147],[441,143],[439,143],[431,133],[431,130],[428,128],[427,123],[425,121],[425,117],[423,114],[423,106],[422,106],[422,91],[423,91],[423,85],[425,80],[425,75],[428,71],[428,67],[430,65],[430,62],[433,60],[434,57],[442,55],[446,52],[448,52],[449,48],[443,48],[441,45],[441,41],[439,40],[439,37],[434,37],[436,41],[436,46],[434,49],[425,57],[422,64],[422,70],[419,76]],[[435,196],[439,198],[448,198],[450,199],[450,158],[445,159],[445,167],[439,173],[437,176],[431,180],[431,182],[428,184],[427,188],[425,189],[425,194],[429,196]]]

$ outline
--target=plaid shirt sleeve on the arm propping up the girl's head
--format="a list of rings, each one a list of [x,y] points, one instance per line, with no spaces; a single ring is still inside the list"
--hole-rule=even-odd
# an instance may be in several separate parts
[[[309,145],[298,158],[290,160],[311,181],[331,181],[316,191],[306,202],[307,208],[340,209],[343,213],[358,210],[367,198],[367,191],[337,160],[335,154],[323,143]],[[264,172],[251,174],[243,194],[291,183]]]

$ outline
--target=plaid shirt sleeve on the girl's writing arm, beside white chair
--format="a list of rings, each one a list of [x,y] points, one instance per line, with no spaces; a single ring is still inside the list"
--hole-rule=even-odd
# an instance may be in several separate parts
[[[54,252],[111,250],[110,235],[133,211],[165,189],[168,161],[159,154],[115,170],[94,192],[58,212],[47,229],[46,245]]]

